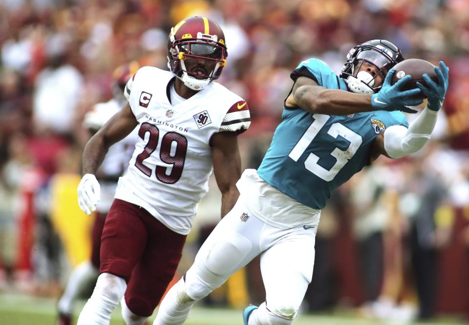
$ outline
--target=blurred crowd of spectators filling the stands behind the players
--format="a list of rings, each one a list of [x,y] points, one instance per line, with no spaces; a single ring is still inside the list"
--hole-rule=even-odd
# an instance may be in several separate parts
[[[468,0],[0,0],[0,293],[58,296],[88,258],[91,218],[76,198],[83,117],[113,96],[116,67],[166,68],[168,32],[192,15],[222,26],[229,54],[218,81],[251,108],[243,168],[259,165],[300,61],[320,58],[339,73],[347,52],[372,39],[405,58],[445,61],[449,89],[431,144],[378,160],[324,209],[302,308],[469,319]],[[212,189],[180,274],[219,218]],[[205,303],[263,301],[256,262]]]

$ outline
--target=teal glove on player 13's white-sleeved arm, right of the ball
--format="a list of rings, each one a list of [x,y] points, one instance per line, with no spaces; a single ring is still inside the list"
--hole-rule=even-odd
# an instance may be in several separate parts
[[[422,75],[422,77],[428,87],[417,82],[417,87],[419,87],[420,90],[422,90],[422,93],[428,98],[428,109],[435,111],[440,110],[442,107],[446,91],[448,90],[449,68],[443,61],[440,61],[440,66],[441,70],[438,66],[435,66],[438,84],[431,80],[426,73]]]

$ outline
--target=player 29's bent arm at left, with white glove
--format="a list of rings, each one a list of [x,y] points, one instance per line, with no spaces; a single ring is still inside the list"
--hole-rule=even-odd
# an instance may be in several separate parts
[[[100,199],[100,186],[94,174],[103,162],[107,150],[125,138],[136,126],[137,120],[126,105],[86,143],[82,157],[83,177],[77,189],[78,205],[85,214],[91,215]]]

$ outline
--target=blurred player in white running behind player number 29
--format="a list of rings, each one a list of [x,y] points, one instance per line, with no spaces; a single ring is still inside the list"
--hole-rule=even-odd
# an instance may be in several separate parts
[[[85,114],[83,127],[89,131],[90,136],[96,133],[109,118],[125,106],[127,100],[124,96],[124,89],[127,81],[138,70],[138,63],[131,62],[128,65],[121,65],[114,71],[112,78],[113,97],[105,102],[98,103]],[[57,304],[58,325],[71,325],[72,304],[80,293],[80,290],[89,282],[95,281],[99,271],[99,251],[101,247],[101,233],[107,212],[114,199],[117,187],[117,180],[127,169],[128,161],[132,156],[137,139],[135,129],[126,138],[112,145],[107,152],[101,167],[96,173],[100,181],[101,200],[96,205],[96,216],[91,231],[91,257],[90,260],[82,262],[70,274],[64,294]]]

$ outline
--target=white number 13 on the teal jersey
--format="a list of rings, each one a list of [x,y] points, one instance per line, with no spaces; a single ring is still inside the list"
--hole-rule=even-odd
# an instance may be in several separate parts
[[[308,130],[304,132],[298,143],[288,154],[288,156],[294,161],[298,161],[299,157],[301,157],[303,152],[305,152],[306,148],[314,140],[316,135],[318,135],[319,131],[324,127],[327,120],[329,120],[331,117],[329,115],[313,114],[313,118],[314,122],[309,126]],[[318,165],[318,160],[320,157],[312,152],[304,161],[304,167],[311,173],[314,173],[318,177],[329,182],[334,179],[342,167],[345,166],[347,161],[353,157],[355,152],[357,152],[358,148],[362,144],[363,140],[360,134],[357,134],[354,131],[346,128],[341,123],[332,124],[329,130],[327,130],[327,134],[331,135],[335,139],[337,139],[337,137],[340,135],[341,137],[350,141],[350,145],[348,146],[347,150],[342,151],[339,148],[335,148],[331,152],[331,155],[334,156],[337,161],[330,170],[327,170]]]

